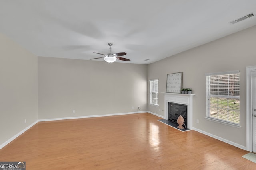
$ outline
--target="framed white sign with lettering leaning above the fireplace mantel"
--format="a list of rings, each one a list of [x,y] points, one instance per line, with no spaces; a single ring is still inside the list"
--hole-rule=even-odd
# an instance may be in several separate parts
[[[166,93],[180,93],[182,88],[182,72],[167,74]]]

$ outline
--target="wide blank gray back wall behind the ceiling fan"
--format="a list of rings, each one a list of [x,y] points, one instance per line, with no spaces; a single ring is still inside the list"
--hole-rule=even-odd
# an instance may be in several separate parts
[[[38,57],[38,103],[39,119],[147,111],[147,65]]]

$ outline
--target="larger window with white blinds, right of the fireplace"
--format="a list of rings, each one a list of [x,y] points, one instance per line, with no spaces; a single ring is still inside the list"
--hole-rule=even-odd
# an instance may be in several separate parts
[[[239,71],[206,75],[206,117],[239,125]]]

